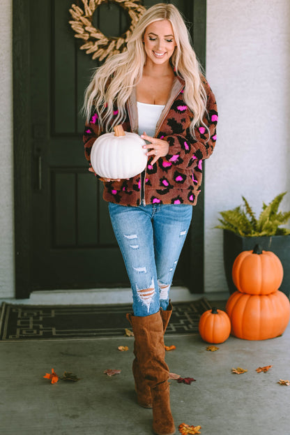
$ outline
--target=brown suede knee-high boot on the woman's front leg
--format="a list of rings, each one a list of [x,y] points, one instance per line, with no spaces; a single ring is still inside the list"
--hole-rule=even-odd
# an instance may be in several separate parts
[[[151,388],[153,431],[157,435],[175,434],[169,397],[169,369],[165,362],[163,322],[160,311],[151,316],[127,315],[135,337],[139,370]]]

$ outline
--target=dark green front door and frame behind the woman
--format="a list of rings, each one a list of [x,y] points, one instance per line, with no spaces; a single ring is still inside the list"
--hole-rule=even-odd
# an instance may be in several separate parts
[[[144,1],[145,6],[155,3]],[[193,20],[193,1],[172,3]],[[129,286],[102,183],[84,159],[79,110],[98,63],[79,50],[68,24],[71,4],[13,3],[17,297],[32,290]],[[99,6],[94,20],[108,36],[128,27],[115,3]],[[193,249],[203,255],[202,198],[196,216],[197,237],[192,230],[176,270],[176,283],[183,285],[193,273]]]

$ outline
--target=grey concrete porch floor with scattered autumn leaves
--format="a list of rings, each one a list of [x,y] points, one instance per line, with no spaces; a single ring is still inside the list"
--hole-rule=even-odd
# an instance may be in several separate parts
[[[211,302],[213,304],[213,302]],[[223,301],[215,305],[224,308]],[[245,341],[229,337],[206,351],[198,336],[165,335],[167,364],[191,385],[171,381],[176,423],[201,425],[201,435],[290,435],[290,327],[282,337]],[[118,346],[129,346],[119,352]],[[151,435],[151,410],[135,401],[131,337],[0,342],[1,435]],[[257,367],[273,365],[268,373]],[[232,367],[247,373],[231,374]],[[43,376],[71,371],[81,381],[51,385]],[[106,376],[105,369],[121,369]]]

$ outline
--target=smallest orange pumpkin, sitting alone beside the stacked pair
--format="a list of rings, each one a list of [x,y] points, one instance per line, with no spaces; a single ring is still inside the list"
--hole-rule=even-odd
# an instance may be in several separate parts
[[[219,344],[229,338],[231,322],[229,316],[221,309],[209,309],[199,319],[199,334],[207,343]]]

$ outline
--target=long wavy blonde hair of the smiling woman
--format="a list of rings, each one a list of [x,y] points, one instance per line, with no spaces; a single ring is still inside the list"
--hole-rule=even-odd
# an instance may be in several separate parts
[[[193,137],[194,127],[204,124],[202,119],[206,112],[206,91],[201,82],[201,67],[190,45],[190,34],[181,13],[176,6],[168,3],[158,3],[148,8],[132,31],[127,50],[110,57],[96,69],[84,97],[83,112],[87,121],[92,112],[96,111],[102,130],[111,131],[115,125],[125,120],[125,103],[132,88],[142,78],[146,61],[142,43],[144,31],[149,24],[158,20],[171,22],[174,31],[176,49],[170,61],[176,75],[185,82],[183,98],[193,114],[190,124]],[[118,109],[118,115],[110,126],[114,106]]]

